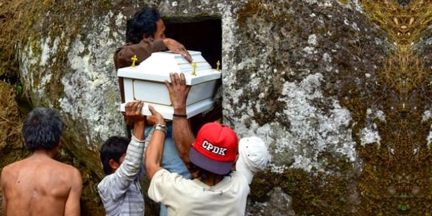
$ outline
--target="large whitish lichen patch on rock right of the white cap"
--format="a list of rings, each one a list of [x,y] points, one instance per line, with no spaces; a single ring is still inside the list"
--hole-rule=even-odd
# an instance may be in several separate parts
[[[253,113],[250,107],[255,103],[251,101],[248,103],[250,105],[238,108],[244,114],[234,122],[236,132],[240,137],[257,135],[270,143],[273,156],[270,169],[273,172],[283,172],[287,168],[321,170],[323,166],[317,157],[329,150],[347,157],[351,162],[357,160],[355,142],[351,138],[350,111],[331,98],[329,100],[332,101],[333,108],[327,113],[312,104],[315,99],[324,100],[320,90],[322,82],[323,75],[317,73],[300,82],[284,83],[279,100],[286,103],[283,114],[291,123],[288,131],[278,122],[259,126],[254,120],[251,120],[252,124],[247,128],[243,122],[250,119],[250,113]],[[242,92],[232,92],[231,95],[236,98]],[[227,112],[225,115],[230,114]],[[281,157],[282,155],[284,156]],[[275,157],[278,160],[274,160]],[[287,160],[292,160],[292,164],[287,165]]]

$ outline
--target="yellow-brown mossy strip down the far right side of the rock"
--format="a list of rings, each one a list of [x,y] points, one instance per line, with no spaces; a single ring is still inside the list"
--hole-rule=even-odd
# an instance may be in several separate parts
[[[422,121],[429,105],[424,96],[415,92],[428,85],[430,75],[418,67],[421,60],[407,48],[417,43],[421,32],[431,24],[431,15],[424,11],[429,11],[432,4],[419,0],[410,2],[407,8],[396,1],[363,0],[361,4],[370,21],[387,33],[388,41],[395,43],[397,50],[386,57],[385,68],[377,71],[382,88],[380,95],[376,95],[376,100],[380,98],[376,103],[386,114],[386,122],[375,121],[380,145],[357,147],[365,161],[359,189],[362,206],[367,206],[359,213],[429,214],[432,208],[427,204],[431,202],[427,191],[431,191],[428,179],[432,177],[429,168],[432,161],[426,157],[431,149],[425,137],[430,122]],[[412,149],[418,152],[412,153]]]

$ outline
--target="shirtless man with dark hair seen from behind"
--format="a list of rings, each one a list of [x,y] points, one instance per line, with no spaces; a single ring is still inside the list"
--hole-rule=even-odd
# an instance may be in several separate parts
[[[57,110],[35,108],[23,125],[31,156],[1,171],[4,216],[79,216],[81,174],[55,161],[63,131]]]

